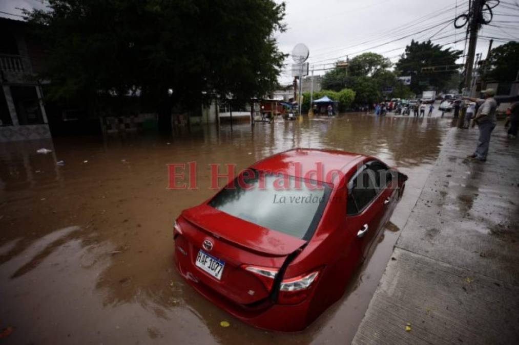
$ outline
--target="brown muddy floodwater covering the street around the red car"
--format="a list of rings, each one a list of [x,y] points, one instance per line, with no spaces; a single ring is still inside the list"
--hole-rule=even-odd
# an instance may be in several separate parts
[[[346,114],[252,130],[204,125],[170,138],[0,143],[0,331],[12,327],[0,342],[349,343],[449,126],[438,116]],[[215,193],[209,164],[242,169],[296,147],[373,155],[409,180],[344,297],[303,332],[286,334],[244,324],[184,283],[172,228],[182,209]],[[168,189],[167,164],[193,161],[198,189]]]

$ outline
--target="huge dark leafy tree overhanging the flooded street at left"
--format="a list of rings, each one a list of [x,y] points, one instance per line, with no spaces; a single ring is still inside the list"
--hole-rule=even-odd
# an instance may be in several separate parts
[[[50,96],[98,104],[139,92],[170,130],[173,106],[199,109],[233,94],[247,102],[272,90],[284,55],[284,3],[273,0],[49,0],[26,12],[49,45]],[[205,95],[205,96],[203,96]],[[98,106],[99,108],[100,106]]]

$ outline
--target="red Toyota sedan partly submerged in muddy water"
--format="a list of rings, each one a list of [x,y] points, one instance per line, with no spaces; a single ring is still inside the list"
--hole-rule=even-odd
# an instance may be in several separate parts
[[[302,330],[344,294],[406,180],[360,154],[275,154],[181,213],[173,230],[176,266],[236,318]]]

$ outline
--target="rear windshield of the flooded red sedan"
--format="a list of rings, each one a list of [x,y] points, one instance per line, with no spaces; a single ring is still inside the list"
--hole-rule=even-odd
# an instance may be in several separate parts
[[[330,196],[330,187],[293,176],[250,171],[247,177],[236,178],[218,192],[209,205],[284,234],[311,238]]]

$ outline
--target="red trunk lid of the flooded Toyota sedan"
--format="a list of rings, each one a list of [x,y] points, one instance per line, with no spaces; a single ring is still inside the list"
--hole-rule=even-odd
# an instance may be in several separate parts
[[[181,246],[183,274],[196,283],[205,284],[223,298],[240,305],[250,305],[266,299],[271,285],[247,266],[278,270],[286,257],[305,245],[306,241],[258,226],[208,205],[200,205],[182,212],[177,220],[181,235],[175,238]],[[212,243],[210,250],[203,242]],[[225,263],[220,279],[196,265],[200,251]],[[184,254],[185,253],[185,254]],[[272,279],[272,282],[274,279]]]

